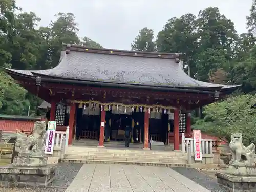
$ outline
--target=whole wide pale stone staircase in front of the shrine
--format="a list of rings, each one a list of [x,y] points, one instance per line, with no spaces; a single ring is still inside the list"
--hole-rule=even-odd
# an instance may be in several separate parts
[[[61,162],[185,166],[187,156],[180,151],[142,150],[138,147],[124,148],[123,145],[120,148],[71,145],[66,148]]]

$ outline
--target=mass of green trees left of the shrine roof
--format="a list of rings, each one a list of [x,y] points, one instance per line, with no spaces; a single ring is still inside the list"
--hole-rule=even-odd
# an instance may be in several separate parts
[[[27,115],[30,108],[30,114],[35,115],[41,100],[16,84],[2,68],[50,69],[58,64],[62,43],[101,45],[87,37],[80,41],[73,13],[58,13],[49,27],[38,29],[40,18],[20,11],[15,1],[0,1],[0,113]]]

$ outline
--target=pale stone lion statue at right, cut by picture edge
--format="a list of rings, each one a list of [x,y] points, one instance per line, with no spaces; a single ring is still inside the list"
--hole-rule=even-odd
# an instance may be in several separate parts
[[[254,166],[255,145],[251,143],[245,147],[243,145],[243,137],[241,133],[232,133],[229,147],[232,154],[232,159],[229,162],[231,165]]]

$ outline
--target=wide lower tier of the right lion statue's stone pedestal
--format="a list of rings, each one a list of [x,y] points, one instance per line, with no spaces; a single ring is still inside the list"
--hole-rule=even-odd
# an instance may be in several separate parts
[[[256,192],[256,176],[239,176],[216,172],[218,183],[229,191]]]

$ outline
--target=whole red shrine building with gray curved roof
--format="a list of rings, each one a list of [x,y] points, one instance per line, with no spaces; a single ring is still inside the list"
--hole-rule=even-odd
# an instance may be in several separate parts
[[[174,143],[191,136],[190,112],[232,93],[238,86],[202,82],[183,70],[178,53],[122,51],[65,45],[56,67],[5,71],[45,100],[57,130],[74,139],[123,139],[122,119],[131,119],[131,142]]]

